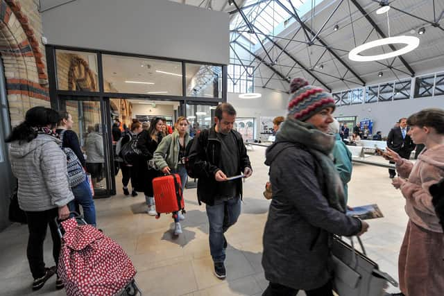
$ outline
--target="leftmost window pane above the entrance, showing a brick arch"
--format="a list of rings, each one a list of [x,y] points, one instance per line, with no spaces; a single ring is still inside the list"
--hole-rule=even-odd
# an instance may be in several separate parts
[[[56,50],[57,88],[97,92],[97,55],[84,51]]]

